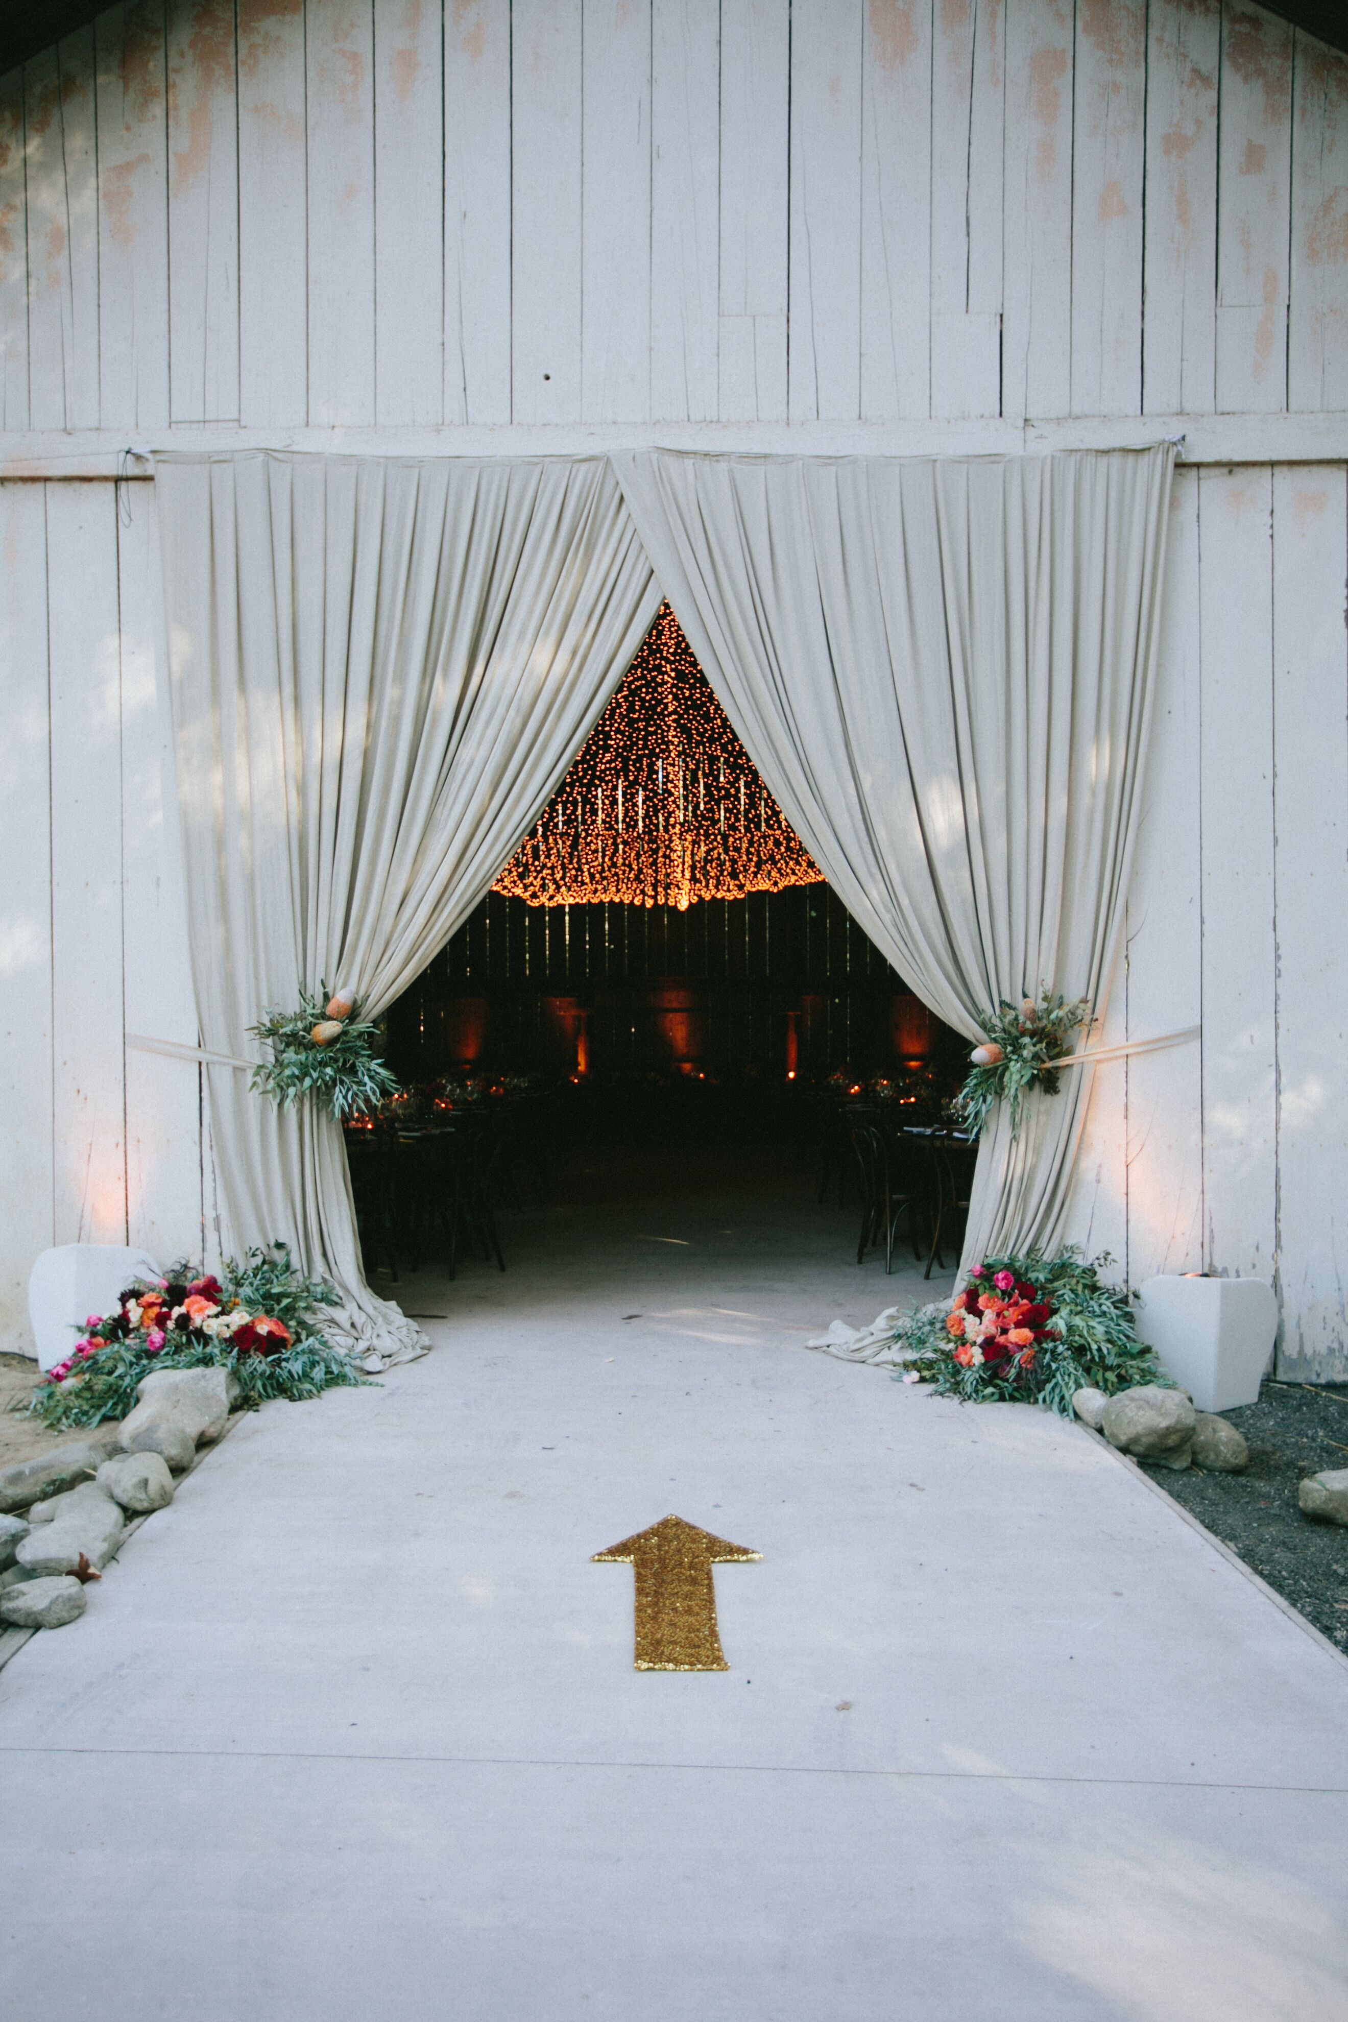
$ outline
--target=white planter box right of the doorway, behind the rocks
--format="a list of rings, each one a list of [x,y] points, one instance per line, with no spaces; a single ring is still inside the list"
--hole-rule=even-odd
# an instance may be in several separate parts
[[[1277,1337],[1267,1278],[1148,1278],[1138,1335],[1200,1411],[1255,1403]]]

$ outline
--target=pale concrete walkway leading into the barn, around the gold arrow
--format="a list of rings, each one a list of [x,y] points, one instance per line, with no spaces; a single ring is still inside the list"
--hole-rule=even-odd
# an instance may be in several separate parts
[[[608,1193],[0,1674],[4,2014],[1338,2014],[1348,1668],[1081,1430],[804,1353],[916,1288],[808,1181]],[[726,1674],[590,1565],[669,1510],[762,1553]]]

